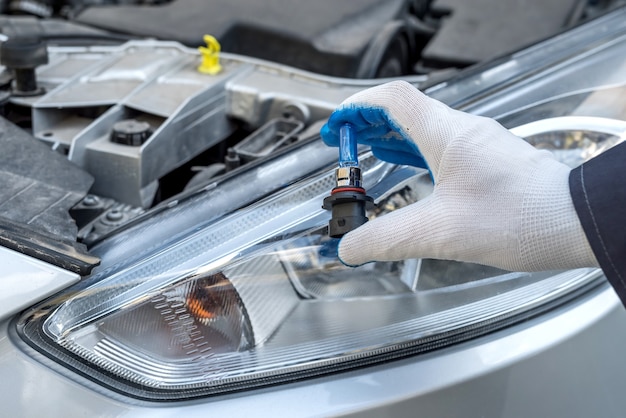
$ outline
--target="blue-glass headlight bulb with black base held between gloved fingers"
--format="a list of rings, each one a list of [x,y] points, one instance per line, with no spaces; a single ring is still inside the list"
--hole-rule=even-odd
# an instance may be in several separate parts
[[[374,200],[361,185],[357,142],[350,124],[339,130],[339,167],[335,170],[335,178],[336,186],[324,199],[322,207],[332,213],[328,235],[341,238],[367,222],[365,211],[374,206]]]

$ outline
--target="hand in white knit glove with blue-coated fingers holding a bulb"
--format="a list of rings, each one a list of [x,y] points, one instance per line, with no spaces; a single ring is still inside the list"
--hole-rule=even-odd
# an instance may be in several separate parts
[[[437,258],[511,271],[597,266],[569,193],[570,169],[497,122],[450,109],[394,81],[357,93],[322,128],[344,123],[384,160],[427,166],[433,193],[346,234],[339,258]]]

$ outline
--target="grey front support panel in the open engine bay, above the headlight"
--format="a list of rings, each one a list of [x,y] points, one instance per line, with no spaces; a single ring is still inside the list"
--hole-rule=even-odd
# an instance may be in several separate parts
[[[89,195],[70,211],[85,244],[317,135],[316,122],[376,83],[229,54],[222,71],[208,75],[198,71],[196,50],[165,41],[47,51],[47,64],[32,74],[33,94],[10,81],[24,69],[5,68],[3,114],[93,176]]]

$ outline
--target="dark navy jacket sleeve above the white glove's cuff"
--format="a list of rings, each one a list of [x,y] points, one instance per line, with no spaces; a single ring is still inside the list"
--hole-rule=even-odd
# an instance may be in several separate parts
[[[626,143],[572,170],[569,185],[591,249],[626,306]]]

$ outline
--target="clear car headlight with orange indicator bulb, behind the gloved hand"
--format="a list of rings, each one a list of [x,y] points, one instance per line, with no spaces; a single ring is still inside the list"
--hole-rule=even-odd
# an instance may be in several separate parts
[[[620,56],[624,64],[626,53]],[[566,126],[553,120],[518,133],[576,164],[624,139],[623,122],[594,121],[590,128],[580,120]],[[323,149],[318,141],[289,158],[304,161]],[[421,169],[369,154],[361,161],[365,187],[377,203],[370,217],[431,191]],[[278,163],[268,163],[257,181],[277,170]],[[220,205],[237,193],[218,186],[105,242],[103,268],[24,314],[18,331],[31,346],[111,389],[178,400],[443,347],[603,282],[595,269],[527,274],[434,260],[344,267],[336,259],[337,242],[325,234],[329,214],[321,208],[333,184],[333,170],[322,170],[208,224],[166,230],[189,223],[190,213],[197,216],[199,200],[221,199]],[[145,251],[116,264],[118,248],[139,247],[133,243]]]

